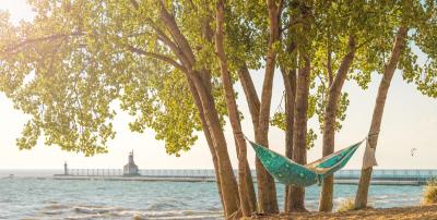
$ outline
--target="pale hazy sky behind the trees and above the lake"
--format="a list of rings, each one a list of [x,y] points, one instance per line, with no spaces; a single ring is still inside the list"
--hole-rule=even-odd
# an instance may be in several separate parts
[[[20,20],[32,20],[33,12],[24,0],[0,0],[0,10],[9,10],[14,23]],[[251,71],[256,87],[260,91],[263,72]],[[376,93],[380,75],[374,74],[369,88],[361,89],[355,82],[346,82],[343,90],[350,95],[350,106],[343,129],[336,133],[335,149],[340,149],[363,139],[370,125]],[[239,110],[245,115],[241,122],[247,136],[253,137],[250,114],[245,101],[241,86],[235,85]],[[283,82],[276,71],[273,86],[272,111],[280,103]],[[273,113],[273,112],[272,112]],[[154,138],[154,132],[146,130],[143,134],[130,132],[128,123],[132,118],[118,111],[114,122],[116,138],[110,140],[109,152],[94,157],[82,154],[66,152],[58,146],[46,146],[40,138],[31,150],[19,150],[15,139],[21,135],[24,123],[29,119],[17,109],[3,94],[0,94],[0,169],[62,169],[67,161],[70,168],[110,168],[121,169],[127,162],[129,151],[134,151],[134,160],[140,169],[212,169],[211,155],[202,133],[199,140],[188,152],[180,157],[165,152],[164,143]],[[321,157],[321,134],[316,119],[309,121],[309,127],[316,129],[318,139],[308,151],[308,162]],[[225,136],[234,168],[237,158],[229,123],[225,126]],[[284,132],[271,127],[270,147],[284,152]],[[411,150],[416,148],[414,156]],[[361,169],[364,145],[347,163],[346,169]],[[377,169],[437,169],[437,99],[423,96],[415,85],[402,80],[397,71],[388,95],[381,132],[377,147]],[[248,149],[248,158],[255,169],[255,152]]]

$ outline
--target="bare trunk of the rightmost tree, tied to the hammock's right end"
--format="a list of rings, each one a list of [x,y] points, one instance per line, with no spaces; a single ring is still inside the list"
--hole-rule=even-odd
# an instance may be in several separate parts
[[[387,94],[389,91],[391,78],[393,77],[397,69],[399,58],[403,47],[405,46],[405,38],[408,34],[406,27],[400,27],[394,39],[394,45],[391,50],[391,58],[389,63],[386,65],[381,83],[379,84],[378,95],[375,101],[374,114],[371,118],[370,131],[368,136],[368,145],[370,148],[376,149],[378,143],[378,134],[381,127],[383,107],[386,106]],[[370,185],[373,168],[362,169],[362,175],[359,178],[358,190],[355,197],[355,208],[365,208],[367,206],[368,187]]]

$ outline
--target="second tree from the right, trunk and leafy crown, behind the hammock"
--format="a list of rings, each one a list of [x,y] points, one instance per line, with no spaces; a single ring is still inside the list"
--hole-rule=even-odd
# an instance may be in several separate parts
[[[381,12],[383,3],[351,1],[344,4],[336,2],[327,3],[327,16],[321,26],[326,32],[322,34],[327,44],[321,45],[320,53],[322,57],[316,60],[319,62],[318,73],[321,81],[321,90],[323,93],[319,120],[322,133],[322,156],[328,156],[334,151],[335,131],[339,130],[340,122],[344,120],[344,110],[347,106],[347,96],[342,94],[342,88],[347,80],[349,73],[356,53],[366,54],[369,47],[369,40],[375,38],[375,27],[379,16],[374,13]],[[378,29],[378,28],[376,28]],[[359,51],[357,51],[359,49]],[[359,56],[359,54],[358,54]],[[324,61],[324,62],[323,62]],[[359,69],[361,66],[358,66]],[[334,70],[336,71],[334,72]],[[364,73],[366,74],[366,73]],[[320,77],[324,75],[324,77]],[[362,76],[363,77],[363,76]],[[331,211],[333,200],[333,176],[327,176],[323,180],[320,192],[319,211]]]

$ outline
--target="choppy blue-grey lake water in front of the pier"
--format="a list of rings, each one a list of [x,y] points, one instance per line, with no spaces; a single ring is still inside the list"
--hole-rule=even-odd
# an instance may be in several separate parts
[[[14,178],[8,175],[13,173]],[[0,219],[221,219],[215,183],[66,181],[38,179],[61,171],[0,171]],[[334,204],[353,197],[356,185],[335,185]],[[277,184],[283,204],[284,186]],[[307,188],[316,210],[319,186]],[[370,186],[370,205],[420,204],[423,186]]]

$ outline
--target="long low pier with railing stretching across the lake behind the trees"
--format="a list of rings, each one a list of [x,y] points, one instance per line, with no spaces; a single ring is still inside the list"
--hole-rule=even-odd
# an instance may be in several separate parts
[[[238,172],[234,171],[238,176]],[[256,181],[256,172],[252,170]],[[334,174],[335,184],[357,184],[361,170],[340,170]],[[374,185],[423,185],[437,179],[437,170],[374,170]],[[173,181],[215,182],[214,170],[139,170],[138,175],[126,176],[121,169],[69,169],[57,174],[57,180],[107,180],[107,181]]]

